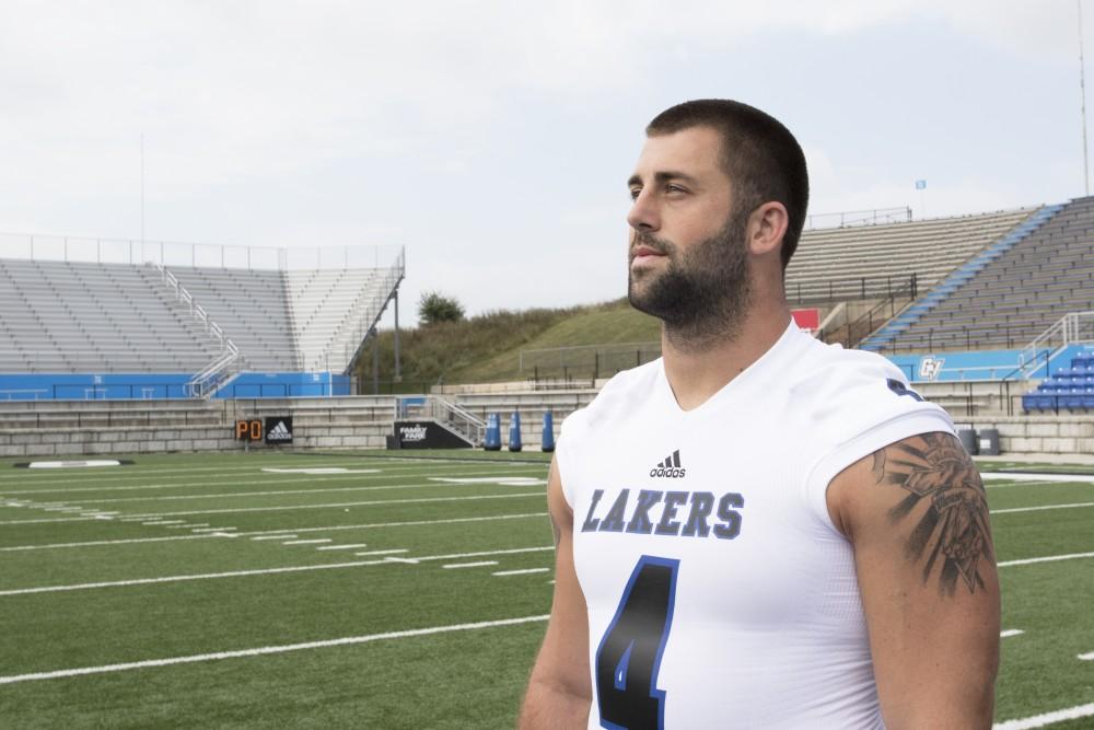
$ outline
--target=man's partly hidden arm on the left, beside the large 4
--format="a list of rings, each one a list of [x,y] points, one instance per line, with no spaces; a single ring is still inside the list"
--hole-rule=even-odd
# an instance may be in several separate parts
[[[521,708],[521,730],[584,728],[592,686],[589,679],[589,617],[573,569],[573,512],[551,463],[547,507],[555,530],[555,599],[539,657]]]

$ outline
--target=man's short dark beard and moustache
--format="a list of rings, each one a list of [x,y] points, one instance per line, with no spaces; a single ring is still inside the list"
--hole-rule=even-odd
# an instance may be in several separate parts
[[[631,306],[664,322],[665,336],[679,349],[736,338],[752,300],[747,225],[748,211],[735,210],[722,230],[683,253],[672,241],[639,232],[631,247],[648,245],[668,262],[663,271],[629,270]]]

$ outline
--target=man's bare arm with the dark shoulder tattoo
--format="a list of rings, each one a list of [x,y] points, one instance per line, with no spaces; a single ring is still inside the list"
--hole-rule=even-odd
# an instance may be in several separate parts
[[[976,466],[946,433],[891,444],[828,489],[854,547],[886,727],[990,728],[999,581]]]

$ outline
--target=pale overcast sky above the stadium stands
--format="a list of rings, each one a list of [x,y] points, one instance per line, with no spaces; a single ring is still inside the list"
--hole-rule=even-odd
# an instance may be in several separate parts
[[[780,118],[811,213],[1062,202],[1078,45],[1074,0],[3,0],[0,232],[139,239],[143,135],[149,240],[403,245],[404,321],[603,301],[661,109]]]

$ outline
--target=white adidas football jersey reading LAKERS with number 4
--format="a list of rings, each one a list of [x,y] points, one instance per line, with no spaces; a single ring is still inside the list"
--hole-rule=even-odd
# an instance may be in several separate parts
[[[828,483],[953,433],[884,358],[791,324],[706,403],[661,360],[566,419],[557,460],[589,607],[590,728],[882,728]]]

